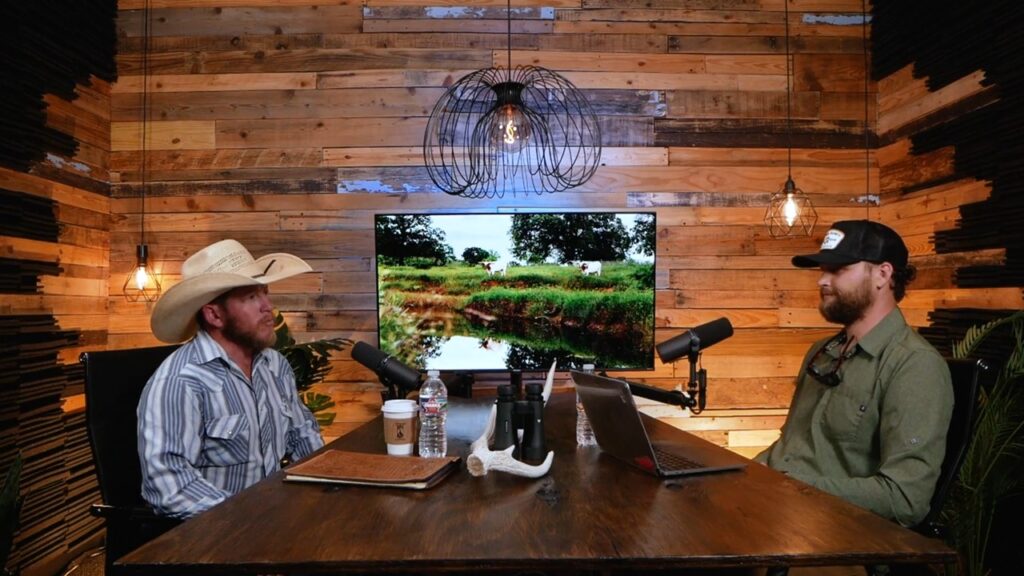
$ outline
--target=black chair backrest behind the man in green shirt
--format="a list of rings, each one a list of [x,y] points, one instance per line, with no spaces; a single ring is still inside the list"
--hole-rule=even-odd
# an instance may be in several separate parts
[[[939,536],[941,528],[938,525],[942,505],[949,495],[950,489],[956,483],[961,464],[967,454],[971,437],[974,434],[974,415],[978,407],[978,387],[981,385],[985,364],[980,360],[946,359],[949,374],[953,383],[953,414],[949,420],[946,433],[946,455],[942,460],[939,480],[935,483],[931,507],[928,516],[918,526],[919,532]]]

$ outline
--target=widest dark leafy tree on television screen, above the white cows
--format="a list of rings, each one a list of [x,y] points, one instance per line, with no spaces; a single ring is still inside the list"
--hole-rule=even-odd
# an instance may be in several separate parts
[[[633,243],[610,213],[515,214],[510,234],[512,253],[529,262],[624,260]]]

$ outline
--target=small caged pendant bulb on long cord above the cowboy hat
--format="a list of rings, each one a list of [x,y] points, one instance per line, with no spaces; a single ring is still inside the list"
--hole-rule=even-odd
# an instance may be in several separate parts
[[[145,0],[142,9],[142,125],[141,125],[141,161],[139,169],[139,243],[135,246],[135,266],[125,279],[121,290],[129,302],[145,300],[155,301],[160,297],[160,280],[150,268],[150,247],[145,244],[145,192],[146,192],[146,145],[150,128],[150,0]]]

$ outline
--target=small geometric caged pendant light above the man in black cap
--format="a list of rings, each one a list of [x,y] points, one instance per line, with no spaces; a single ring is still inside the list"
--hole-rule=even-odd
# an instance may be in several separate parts
[[[818,213],[810,197],[793,181],[793,111],[791,106],[793,73],[790,64],[790,3],[782,2],[785,18],[785,139],[786,177],[778,192],[771,195],[765,212],[765,225],[772,238],[810,236]]]

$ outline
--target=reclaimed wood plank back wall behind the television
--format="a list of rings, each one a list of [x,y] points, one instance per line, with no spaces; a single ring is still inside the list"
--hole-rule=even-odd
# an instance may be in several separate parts
[[[376,343],[376,212],[652,208],[656,339],[722,316],[736,333],[703,357],[703,415],[650,411],[757,452],[777,435],[804,352],[836,330],[817,313],[816,274],[790,257],[814,251],[827,222],[882,216],[863,202],[880,181],[864,150],[860,1],[790,3],[793,172],[820,222],[797,240],[772,240],[762,223],[786,175],[782,0],[513,1],[513,64],[551,68],[583,88],[606,149],[581,189],[500,200],[450,198],[421,166],[423,128],[444,85],[506,58],[504,1],[463,4],[154,1],[145,230],[165,286],[188,254],[225,237],[257,254],[291,251],[316,271],[274,287],[292,329]],[[145,306],[116,295],[139,236],[141,7],[120,3],[111,347],[156,343]],[[932,254],[926,235],[912,250]],[[950,284],[936,277],[925,287],[904,304],[918,326]],[[686,372],[685,362],[658,364],[629,377],[669,387]],[[379,405],[374,375],[347,355],[327,387],[351,402],[328,436]]]

